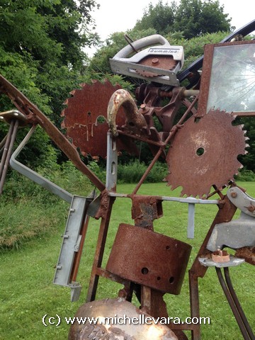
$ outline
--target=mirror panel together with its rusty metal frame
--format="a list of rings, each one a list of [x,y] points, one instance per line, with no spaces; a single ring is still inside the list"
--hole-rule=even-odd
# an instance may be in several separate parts
[[[255,115],[255,40],[205,45],[198,116]]]

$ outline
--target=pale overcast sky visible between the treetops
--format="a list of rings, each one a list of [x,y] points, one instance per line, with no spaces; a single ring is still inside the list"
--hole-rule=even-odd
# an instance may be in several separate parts
[[[150,2],[155,6],[159,0],[96,0],[100,9],[92,12],[92,16],[101,40],[105,40],[114,32],[125,32],[133,28]],[[163,0],[163,4],[171,4],[171,0]],[[224,13],[229,14],[229,18],[232,18],[231,24],[236,28],[241,28],[255,18],[254,0],[220,0],[220,5],[224,5]],[[93,55],[94,50],[88,49],[86,52]]]

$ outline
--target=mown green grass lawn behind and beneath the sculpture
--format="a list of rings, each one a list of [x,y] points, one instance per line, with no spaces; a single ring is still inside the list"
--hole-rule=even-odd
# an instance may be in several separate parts
[[[240,183],[247,188],[247,193],[255,196],[255,183]],[[130,193],[132,185],[120,185],[118,191]],[[139,191],[146,195],[179,196],[179,190],[174,194],[169,191],[165,183],[144,184]],[[33,222],[30,220],[30,210],[33,214]],[[91,265],[96,248],[99,221],[91,219],[89,230],[84,246],[84,254],[81,260],[78,280],[83,285],[81,297],[78,302],[70,302],[69,289],[52,284],[55,273],[55,264],[62,239],[60,235],[64,232],[65,217],[67,215],[67,205],[57,202],[55,207],[42,207],[33,205],[28,200],[27,222],[25,215],[22,216],[23,223],[42,224],[46,220],[45,232],[43,229],[38,237],[30,237],[25,244],[19,244],[18,250],[2,250],[0,253],[0,339],[1,340],[64,340],[67,339],[69,326],[62,322],[59,327],[54,325],[45,327],[42,324],[42,317],[47,314],[49,317],[72,317],[78,307],[86,299],[86,290],[91,272]],[[39,213],[37,210],[42,209]],[[131,201],[128,198],[118,198],[113,205],[108,240],[103,264],[106,264],[108,254],[110,254],[115,232],[120,223],[133,224],[130,217]],[[10,223],[16,212],[11,214],[11,205],[6,211],[10,214]],[[193,246],[191,259],[188,267],[203,242],[208,228],[217,212],[214,205],[196,206],[196,232],[195,239],[186,238],[188,207],[186,204],[164,202],[164,216],[154,223],[156,232],[161,232],[170,237],[181,239]],[[2,211],[1,213],[4,213]],[[51,215],[51,217],[48,216]],[[36,216],[38,218],[36,219]],[[51,222],[48,220],[50,219]],[[230,268],[232,281],[237,295],[244,307],[246,316],[255,328],[254,320],[254,267],[249,264],[242,264]],[[204,325],[202,329],[202,339],[225,339],[242,340],[237,324],[229,305],[222,293],[220,284],[213,268],[209,268],[205,278],[199,280],[200,287],[200,315],[210,317],[211,324]],[[121,288],[117,283],[101,278],[98,285],[97,299],[115,297]],[[187,276],[183,283],[181,294],[178,296],[165,295],[165,300],[170,317],[180,317],[185,319],[189,315],[189,297]]]

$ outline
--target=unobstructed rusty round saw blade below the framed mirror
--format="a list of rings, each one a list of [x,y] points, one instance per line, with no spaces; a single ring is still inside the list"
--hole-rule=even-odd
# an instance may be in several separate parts
[[[212,186],[228,186],[242,167],[237,157],[248,146],[242,125],[232,125],[233,120],[225,111],[210,110],[184,123],[166,157],[171,190],[181,186],[181,196],[205,198]]]

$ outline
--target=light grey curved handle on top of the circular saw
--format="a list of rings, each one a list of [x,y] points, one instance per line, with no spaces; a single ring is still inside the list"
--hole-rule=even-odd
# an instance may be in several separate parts
[[[169,42],[164,37],[162,37],[162,35],[159,34],[149,35],[149,37],[145,37],[132,42],[132,46],[135,48],[135,50],[141,50],[142,48],[149,47],[155,44],[161,45],[162,47],[170,46]],[[120,52],[118,52],[113,58],[127,58],[133,52],[134,50],[132,49],[132,47],[130,45],[127,45],[123,47],[123,49],[120,50]]]

